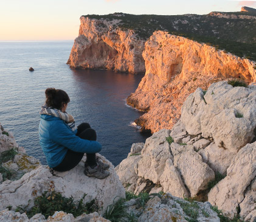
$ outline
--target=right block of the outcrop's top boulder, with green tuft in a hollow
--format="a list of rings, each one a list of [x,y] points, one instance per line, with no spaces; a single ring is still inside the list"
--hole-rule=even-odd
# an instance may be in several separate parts
[[[212,93],[213,92],[213,93]],[[237,152],[255,137],[256,89],[213,83],[207,90],[202,113],[202,136],[213,137],[217,146]]]

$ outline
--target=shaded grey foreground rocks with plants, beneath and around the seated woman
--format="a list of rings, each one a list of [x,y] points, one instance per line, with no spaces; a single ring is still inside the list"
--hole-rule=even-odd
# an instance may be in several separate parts
[[[26,163],[19,166],[19,162],[13,163],[13,161],[21,153],[26,155],[24,149],[16,147],[15,150],[18,153],[13,153],[13,147],[9,147],[9,144],[16,144],[14,137],[8,130],[4,130],[1,125],[0,129],[0,142],[5,141],[5,143],[0,143],[5,144],[5,151],[0,152],[0,172],[3,172],[4,168],[12,170],[11,173],[13,173],[13,164],[16,164],[18,168],[26,166],[27,169],[27,172],[23,176],[20,175],[19,178],[7,180],[4,177],[4,181],[0,181],[0,221],[220,221],[217,212],[212,209],[212,205],[208,202],[189,202],[174,197],[170,193],[153,193],[151,195],[142,193],[139,196],[127,193],[125,197],[125,189],[120,183],[114,167],[109,162],[111,165],[109,168],[110,175],[105,180],[88,178],[83,174],[85,158],[78,166],[68,172],[51,172],[49,167],[38,164],[32,156],[27,156]],[[6,141],[9,142],[6,143]],[[136,150],[133,151],[136,152]],[[11,160],[7,160],[7,152],[9,152]],[[13,156],[10,156],[10,153]],[[107,161],[103,156],[100,156],[100,158],[104,162]],[[65,199],[60,199],[60,193]],[[38,199],[42,198],[43,195],[44,199]],[[57,201],[55,201],[56,199]],[[74,206],[71,203],[73,200]],[[55,204],[50,204],[53,201],[55,201]],[[37,205],[33,206],[34,203]],[[80,212],[81,215],[77,217],[73,215],[74,213],[68,214],[64,211],[55,211],[52,212],[52,215],[46,214],[47,209],[51,211],[54,209],[68,209],[69,212],[74,212],[74,207],[85,203],[91,206],[91,209],[98,210],[98,212],[83,214],[83,210]],[[72,209],[70,209],[69,204]],[[33,209],[36,213],[33,217],[31,214],[29,215],[28,210],[30,209]],[[103,214],[105,210],[104,217],[109,218],[109,220],[99,215],[99,213]],[[49,217],[46,218],[45,216]]]

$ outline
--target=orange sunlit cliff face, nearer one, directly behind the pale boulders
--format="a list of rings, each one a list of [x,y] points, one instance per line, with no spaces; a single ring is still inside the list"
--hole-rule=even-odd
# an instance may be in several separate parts
[[[256,81],[255,63],[206,44],[154,32],[143,52],[146,74],[127,102],[147,110],[139,119],[144,129],[171,129],[181,116],[185,98],[197,87],[227,78]]]

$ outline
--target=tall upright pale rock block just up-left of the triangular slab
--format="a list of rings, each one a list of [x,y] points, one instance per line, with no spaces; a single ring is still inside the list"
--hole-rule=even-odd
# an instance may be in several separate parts
[[[154,133],[145,142],[142,149],[142,158],[137,164],[137,175],[145,179],[159,183],[164,171],[165,161],[171,158],[170,145],[166,137],[170,135],[170,130],[160,130]]]

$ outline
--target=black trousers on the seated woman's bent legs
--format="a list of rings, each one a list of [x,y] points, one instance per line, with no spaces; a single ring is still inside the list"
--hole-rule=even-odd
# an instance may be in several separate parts
[[[77,127],[77,136],[84,140],[96,140],[97,135],[94,129],[91,129],[91,126],[88,123],[81,123]],[[72,150],[67,150],[66,156],[64,157],[63,161],[58,164],[58,166],[53,167],[54,170],[59,172],[64,172],[67,170],[73,169],[83,158],[85,153],[78,153]],[[87,159],[86,164],[89,166],[95,166],[96,162],[96,155],[95,153],[86,153]]]

